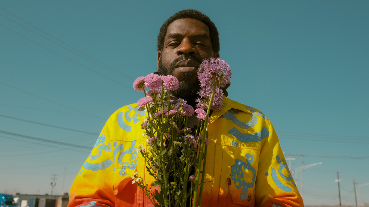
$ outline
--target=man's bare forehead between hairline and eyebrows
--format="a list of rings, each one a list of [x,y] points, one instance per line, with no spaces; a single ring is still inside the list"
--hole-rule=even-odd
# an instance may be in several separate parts
[[[184,18],[175,20],[169,24],[165,39],[168,38],[168,35],[170,34],[180,34],[183,36],[207,34],[210,39],[209,33],[209,27],[203,22],[195,19]]]

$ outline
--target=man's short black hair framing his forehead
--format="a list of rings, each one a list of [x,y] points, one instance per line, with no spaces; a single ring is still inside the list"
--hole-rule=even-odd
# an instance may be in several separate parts
[[[211,48],[213,49],[214,53],[219,52],[220,45],[219,45],[219,33],[217,30],[217,27],[215,27],[215,24],[210,20],[208,16],[194,9],[186,9],[186,10],[178,11],[173,16],[169,17],[163,23],[163,25],[160,28],[159,35],[158,35],[158,45],[157,45],[158,51],[163,51],[164,39],[165,39],[166,31],[168,30],[169,24],[175,20],[184,19],[184,18],[199,20],[203,22],[204,24],[206,24],[209,27]]]

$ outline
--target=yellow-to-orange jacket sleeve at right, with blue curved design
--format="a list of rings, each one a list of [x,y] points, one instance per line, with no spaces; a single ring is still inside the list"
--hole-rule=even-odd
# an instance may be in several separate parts
[[[303,200],[283,156],[278,136],[269,120],[266,124],[269,136],[261,140],[255,181],[255,206],[303,207]]]

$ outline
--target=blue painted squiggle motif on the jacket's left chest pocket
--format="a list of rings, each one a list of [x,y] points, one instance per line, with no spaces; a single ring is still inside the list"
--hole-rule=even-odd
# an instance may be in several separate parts
[[[117,159],[118,163],[122,165],[119,174],[126,175],[127,173],[124,172],[125,169],[129,168],[131,170],[134,170],[135,166],[137,166],[137,152],[135,150],[136,140],[133,140],[131,142],[131,146],[127,150],[124,150],[123,145],[117,145],[116,142],[114,142],[113,145],[116,146],[113,151],[113,159],[114,159],[113,173],[115,172],[115,160]],[[129,162],[123,162],[123,157],[127,154],[131,155],[131,158]]]

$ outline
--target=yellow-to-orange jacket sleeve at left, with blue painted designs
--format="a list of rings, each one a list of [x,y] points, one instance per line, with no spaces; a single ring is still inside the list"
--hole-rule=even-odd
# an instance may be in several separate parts
[[[114,207],[113,155],[107,125],[73,181],[68,207]]]

